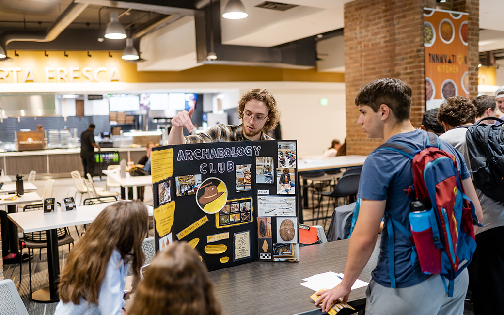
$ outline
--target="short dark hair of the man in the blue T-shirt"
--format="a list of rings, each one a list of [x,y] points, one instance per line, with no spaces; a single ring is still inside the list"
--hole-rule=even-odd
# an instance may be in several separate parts
[[[398,121],[409,119],[411,87],[399,79],[383,78],[360,88],[355,97],[355,105],[367,105],[374,112],[377,112],[382,104],[390,107]]]

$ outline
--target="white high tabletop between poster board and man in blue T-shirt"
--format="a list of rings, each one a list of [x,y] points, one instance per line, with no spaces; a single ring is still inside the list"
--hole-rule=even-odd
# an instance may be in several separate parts
[[[297,171],[318,171],[337,169],[343,167],[361,166],[364,164],[367,155],[342,155],[330,158],[303,159],[297,161]],[[301,174],[302,176],[302,174]]]

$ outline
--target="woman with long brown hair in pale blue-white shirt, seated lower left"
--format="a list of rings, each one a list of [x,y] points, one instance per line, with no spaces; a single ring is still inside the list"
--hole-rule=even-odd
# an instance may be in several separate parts
[[[54,315],[125,314],[124,287],[132,264],[133,290],[145,256],[149,214],[139,201],[106,207],[72,248],[61,272]]]

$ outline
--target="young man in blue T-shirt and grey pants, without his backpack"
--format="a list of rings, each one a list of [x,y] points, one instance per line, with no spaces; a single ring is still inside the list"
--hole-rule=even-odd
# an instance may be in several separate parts
[[[365,85],[357,94],[355,104],[360,111],[357,122],[367,137],[381,138],[386,144],[396,143],[416,151],[426,149],[427,144],[431,143],[428,133],[416,130],[411,124],[411,88],[401,80],[385,78]],[[457,183],[454,188],[457,188],[457,192],[459,187],[462,191],[465,188],[467,196],[475,201],[475,211],[480,218],[481,208],[460,153],[446,142],[438,140],[435,135],[430,135],[434,137],[433,146],[440,147],[444,150],[442,152],[455,157],[452,167],[456,165],[458,168],[455,173],[460,172],[461,183]],[[450,315],[463,312],[468,285],[467,271],[461,267],[460,274],[457,272],[458,276],[451,281],[452,279],[444,279],[439,275],[422,273],[418,259],[415,259],[414,243],[410,241],[410,235],[407,235],[411,233],[404,228],[410,226],[410,204],[415,200],[415,193],[412,192],[413,155],[408,157],[403,153],[401,150],[383,148],[373,151],[367,157],[360,177],[357,197],[362,198],[362,201],[350,237],[345,276],[339,285],[321,292],[316,304],[322,302],[323,311],[327,311],[331,303],[339,298],[348,300],[352,284],[372,254],[380,223],[385,217],[380,255],[366,290],[366,314]],[[464,188],[461,187],[462,183]],[[455,190],[446,193],[447,196],[453,196],[453,200],[449,202],[460,202],[462,194],[459,193],[456,197]],[[465,215],[471,218],[470,212],[465,212]],[[452,222],[450,218],[448,221]],[[393,221],[395,223],[391,224]],[[460,235],[469,238],[471,236],[467,232],[470,231],[474,233],[472,225],[458,230]],[[445,237],[445,240],[449,238]],[[473,239],[472,241],[474,242]],[[456,251],[458,254],[459,250]],[[462,266],[463,262],[460,263]]]

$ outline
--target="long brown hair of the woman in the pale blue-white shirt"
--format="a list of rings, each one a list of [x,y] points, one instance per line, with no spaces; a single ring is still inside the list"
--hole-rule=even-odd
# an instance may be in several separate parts
[[[106,207],[70,251],[59,278],[61,301],[79,304],[82,297],[97,304],[101,282],[114,249],[124,263],[132,263],[135,288],[145,260],[142,241],[148,231],[149,214],[141,202],[119,201]]]

